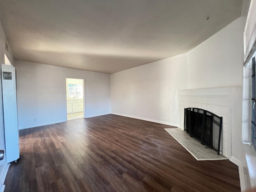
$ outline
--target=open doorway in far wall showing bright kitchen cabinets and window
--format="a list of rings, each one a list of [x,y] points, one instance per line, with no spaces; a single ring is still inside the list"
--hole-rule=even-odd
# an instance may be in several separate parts
[[[84,80],[66,78],[67,120],[84,118]]]

